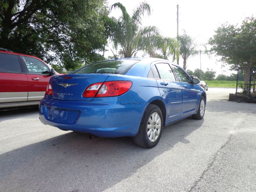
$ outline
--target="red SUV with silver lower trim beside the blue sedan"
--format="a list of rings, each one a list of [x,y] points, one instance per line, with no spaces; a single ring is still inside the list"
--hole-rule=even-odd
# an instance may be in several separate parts
[[[0,48],[0,108],[38,104],[56,75],[37,57]]]

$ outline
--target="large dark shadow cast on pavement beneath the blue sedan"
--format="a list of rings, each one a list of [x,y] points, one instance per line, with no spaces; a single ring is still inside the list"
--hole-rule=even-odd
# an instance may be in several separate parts
[[[68,132],[0,155],[3,191],[102,191],[132,176],[141,167],[200,128],[204,120],[187,118],[162,131],[157,146],[145,149],[132,138],[94,138]]]

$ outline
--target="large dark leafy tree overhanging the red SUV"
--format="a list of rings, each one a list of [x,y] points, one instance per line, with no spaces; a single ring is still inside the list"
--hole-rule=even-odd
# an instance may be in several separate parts
[[[101,60],[110,35],[105,0],[1,0],[0,47],[66,69]]]

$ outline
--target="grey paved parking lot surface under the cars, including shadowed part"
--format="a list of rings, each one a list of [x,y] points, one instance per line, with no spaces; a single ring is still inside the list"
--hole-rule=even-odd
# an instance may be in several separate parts
[[[43,125],[37,108],[1,111],[0,191],[256,191],[256,104],[234,92],[209,88],[204,119],[165,127],[152,149]]]

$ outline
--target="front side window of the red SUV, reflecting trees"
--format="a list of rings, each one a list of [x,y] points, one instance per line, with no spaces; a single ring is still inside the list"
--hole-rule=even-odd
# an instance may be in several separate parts
[[[32,58],[32,57],[23,57],[26,65],[28,67],[29,73],[36,73],[36,74],[50,74],[50,70],[46,64],[44,64],[42,61]]]

